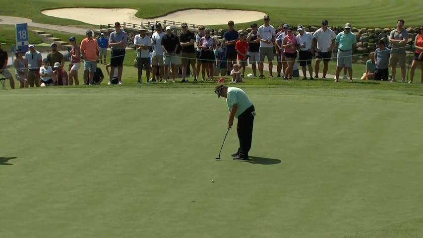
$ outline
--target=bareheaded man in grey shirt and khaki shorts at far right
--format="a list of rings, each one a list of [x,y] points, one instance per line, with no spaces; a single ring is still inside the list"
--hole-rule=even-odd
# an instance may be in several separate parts
[[[408,31],[404,29],[404,20],[397,21],[397,28],[389,34],[389,43],[392,44],[389,66],[391,66],[391,82],[396,82],[397,63],[401,67],[401,82],[405,83],[405,61]]]

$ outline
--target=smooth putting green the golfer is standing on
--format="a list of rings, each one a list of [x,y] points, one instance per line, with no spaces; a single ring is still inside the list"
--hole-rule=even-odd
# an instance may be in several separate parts
[[[0,237],[421,237],[423,94],[353,86],[245,87],[251,162],[212,84],[2,91]]]

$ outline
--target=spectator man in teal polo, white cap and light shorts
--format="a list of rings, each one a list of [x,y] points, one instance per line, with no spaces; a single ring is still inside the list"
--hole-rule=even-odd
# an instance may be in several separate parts
[[[335,38],[335,43],[338,47],[338,54],[336,57],[336,79],[335,82],[339,80],[339,73],[343,67],[348,69],[348,74],[350,76],[350,82],[353,82],[353,50],[356,47],[357,38],[351,32],[351,24],[345,24],[345,29],[343,32],[338,33]]]

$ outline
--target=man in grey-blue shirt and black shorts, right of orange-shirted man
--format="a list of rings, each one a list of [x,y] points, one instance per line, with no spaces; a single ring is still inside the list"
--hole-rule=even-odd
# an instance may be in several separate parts
[[[121,30],[121,23],[115,22],[115,31],[110,33],[109,47],[112,48],[110,54],[110,76],[109,85],[112,84],[112,76],[115,74],[115,69],[118,68],[118,84],[122,84],[122,70],[123,60],[125,59],[125,46],[126,46],[126,32]]]

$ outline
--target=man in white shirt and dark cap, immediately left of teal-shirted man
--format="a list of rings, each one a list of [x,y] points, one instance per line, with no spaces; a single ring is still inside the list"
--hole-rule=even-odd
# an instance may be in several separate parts
[[[328,21],[322,21],[322,27],[317,29],[313,36],[313,49],[317,52],[316,63],[314,69],[316,75],[314,78],[319,78],[320,61],[323,60],[323,77],[326,78],[326,73],[329,67],[329,61],[332,57],[332,51],[335,48],[336,34],[327,27]]]

